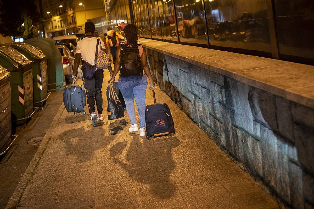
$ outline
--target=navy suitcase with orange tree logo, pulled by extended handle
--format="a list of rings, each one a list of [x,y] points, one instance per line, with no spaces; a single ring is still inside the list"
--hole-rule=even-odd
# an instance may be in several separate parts
[[[145,109],[146,137],[154,139],[160,136],[175,134],[175,125],[167,104],[157,104],[153,90],[154,104],[147,105]]]

